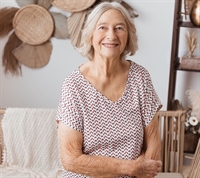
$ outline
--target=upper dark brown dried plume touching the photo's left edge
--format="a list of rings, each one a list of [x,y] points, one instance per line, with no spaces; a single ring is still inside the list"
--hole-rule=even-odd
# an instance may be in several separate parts
[[[6,36],[13,29],[13,18],[18,10],[15,7],[0,9],[0,37]]]

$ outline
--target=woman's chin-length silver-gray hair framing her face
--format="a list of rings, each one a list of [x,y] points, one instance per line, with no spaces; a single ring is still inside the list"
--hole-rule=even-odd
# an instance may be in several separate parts
[[[94,57],[94,48],[92,47],[92,35],[97,24],[97,21],[101,15],[110,10],[116,9],[122,13],[128,27],[128,40],[124,52],[121,54],[121,58],[125,58],[126,55],[134,55],[138,50],[136,28],[130,17],[128,11],[117,2],[103,2],[97,5],[92,12],[88,15],[82,30],[81,43],[77,50],[85,57],[92,59]]]

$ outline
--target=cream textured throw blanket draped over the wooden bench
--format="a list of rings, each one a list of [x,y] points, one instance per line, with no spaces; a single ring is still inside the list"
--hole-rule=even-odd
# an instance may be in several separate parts
[[[1,178],[58,178],[61,161],[56,109],[8,108]]]

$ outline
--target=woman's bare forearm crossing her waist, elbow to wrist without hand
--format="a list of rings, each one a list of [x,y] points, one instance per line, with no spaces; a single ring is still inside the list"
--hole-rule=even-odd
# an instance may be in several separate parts
[[[136,175],[136,161],[122,160],[103,156],[80,155],[63,157],[62,164],[68,171],[92,177],[115,177]]]

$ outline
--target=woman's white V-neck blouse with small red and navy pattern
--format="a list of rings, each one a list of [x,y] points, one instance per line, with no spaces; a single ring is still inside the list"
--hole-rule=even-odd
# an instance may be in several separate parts
[[[57,120],[83,133],[83,153],[137,159],[144,127],[161,107],[149,73],[131,62],[126,88],[113,102],[96,90],[79,69],[62,86]],[[63,177],[86,177],[63,170]],[[123,178],[129,176],[122,176]]]

